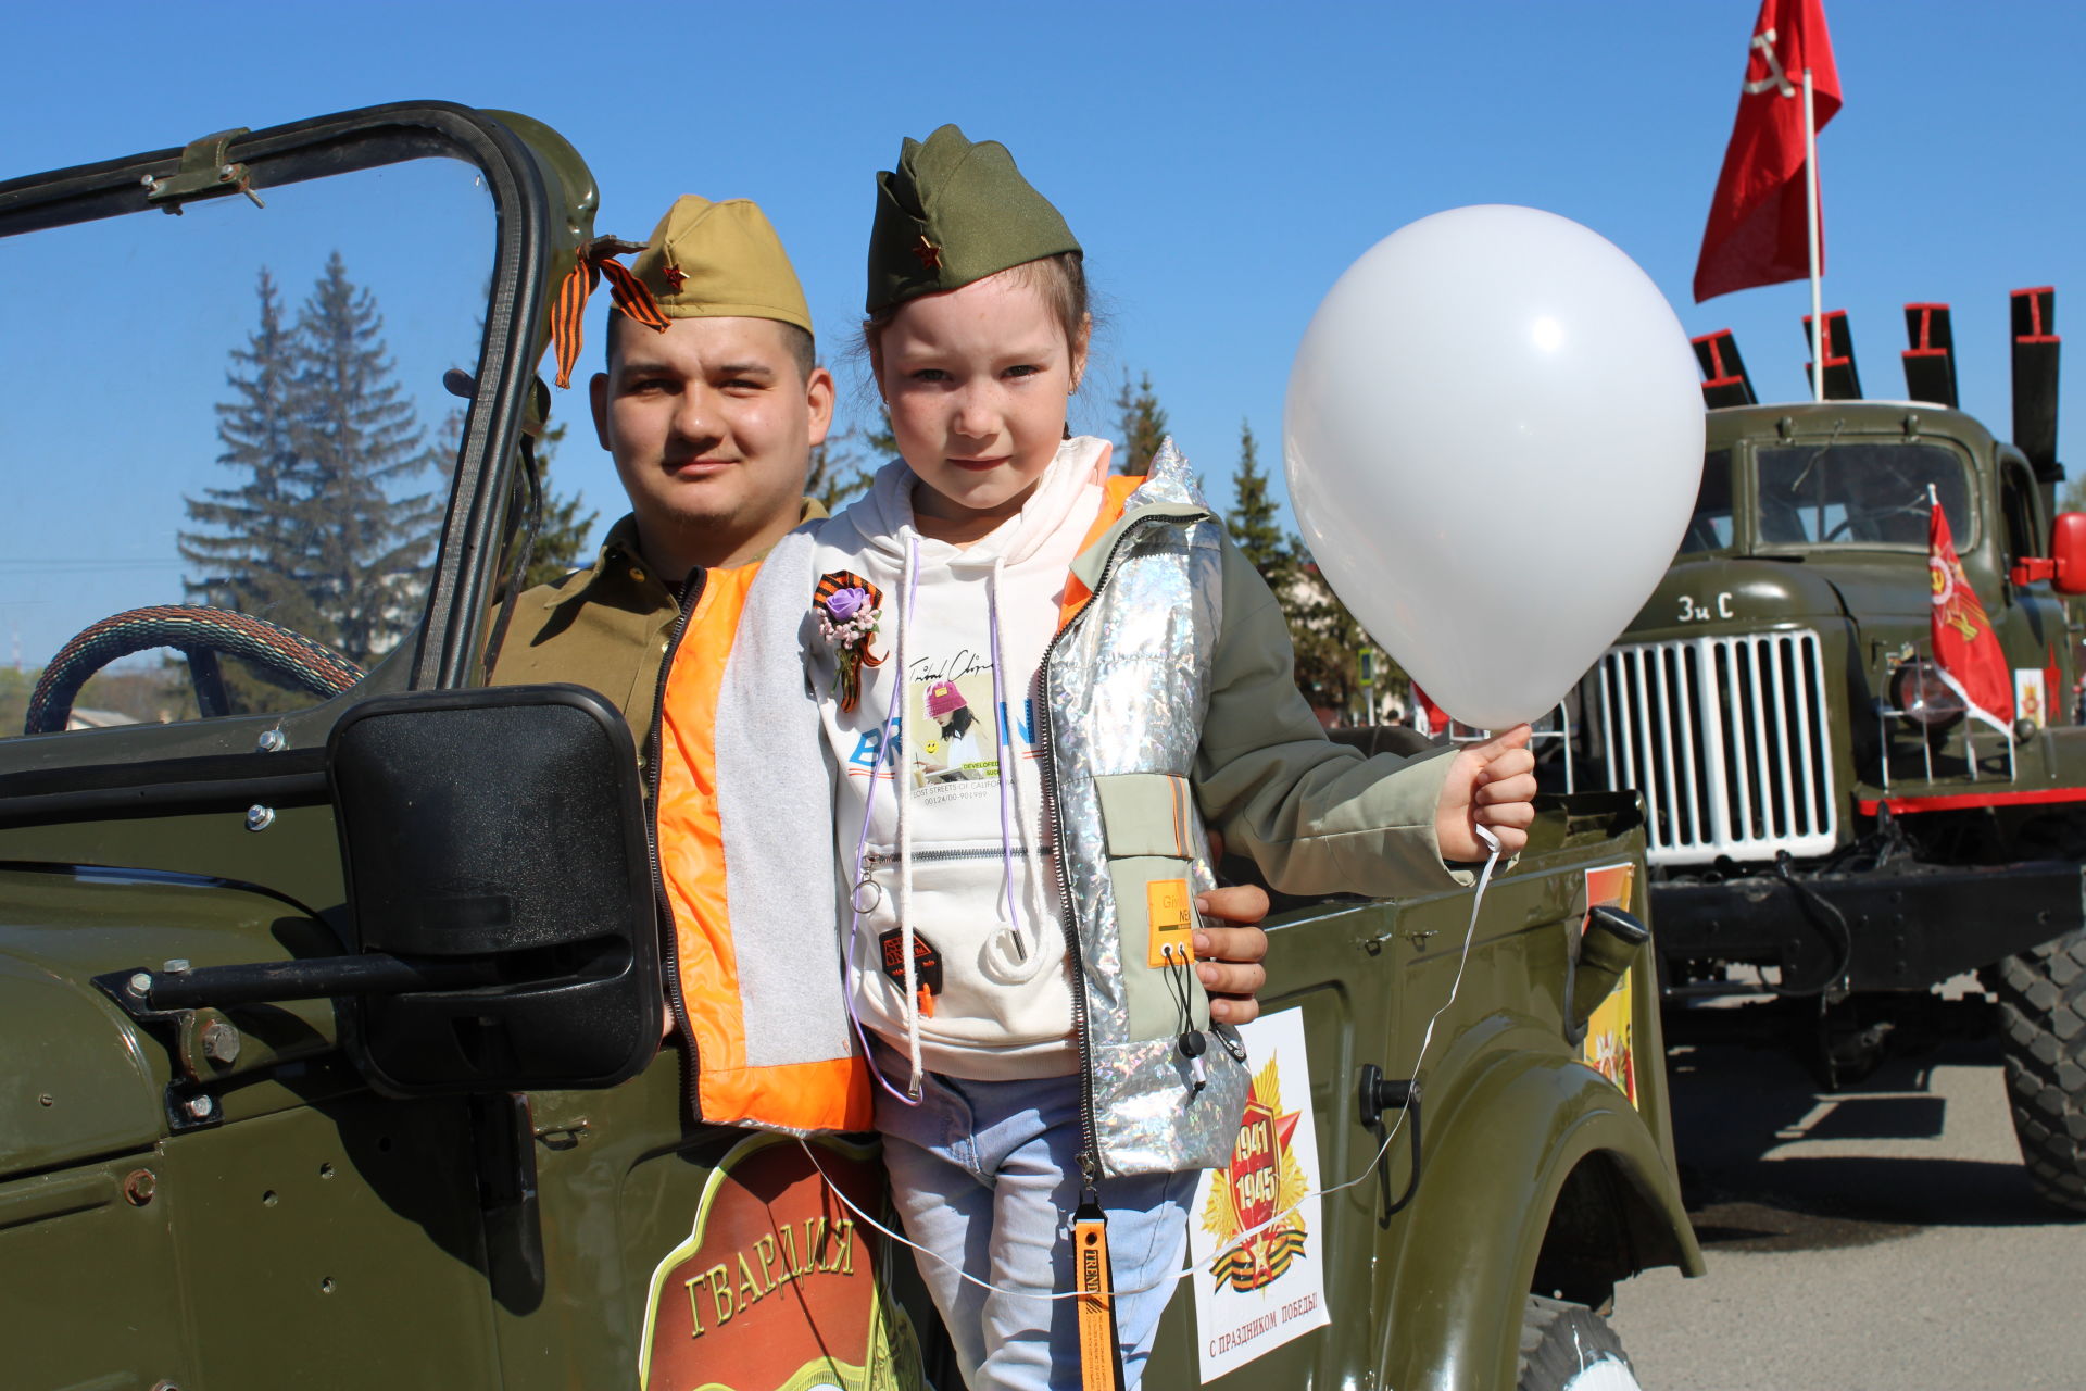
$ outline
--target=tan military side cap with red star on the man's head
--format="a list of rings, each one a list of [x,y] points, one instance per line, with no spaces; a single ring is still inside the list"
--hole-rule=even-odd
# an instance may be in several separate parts
[[[682,194],[630,269],[668,319],[776,319],[811,332],[782,240],[745,198]]]

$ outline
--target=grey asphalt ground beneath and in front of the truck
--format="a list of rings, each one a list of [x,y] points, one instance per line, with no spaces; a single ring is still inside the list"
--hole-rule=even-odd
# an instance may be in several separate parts
[[[2028,1187],[1994,1041],[1838,1093],[1761,1047],[1669,1068],[1708,1276],[1617,1289],[1648,1391],[2086,1387],[2086,1226]]]

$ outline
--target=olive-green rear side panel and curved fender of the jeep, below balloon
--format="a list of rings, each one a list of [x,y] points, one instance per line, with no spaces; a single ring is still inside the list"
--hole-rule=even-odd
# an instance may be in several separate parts
[[[1537,822],[1529,851],[1487,888],[1475,932],[1469,893],[1270,920],[1262,1007],[1304,1009],[1325,1187],[1368,1174],[1377,1153],[1356,1114],[1362,1064],[1421,1078],[1423,1172],[1412,1203],[1387,1226],[1375,1178],[1325,1199],[1333,1326],[1214,1385],[1512,1385],[1523,1295],[1558,1193],[1583,1164],[1617,1178],[1606,1214],[1617,1241],[1590,1243],[1581,1251],[1590,1268],[1610,1280],[1660,1264],[1702,1274],[1671,1162],[1652,953],[1631,995],[1635,1107],[1564,1039],[1567,953],[1585,911],[1585,870],[1638,865],[1631,907],[1644,907],[1633,813],[1619,811],[1619,799],[1606,801],[1608,815],[1587,815],[1590,805],[1600,803],[1579,799]],[[1385,1153],[1393,1193],[1412,1176],[1406,1143],[1396,1134]],[[1193,1322],[1191,1299],[1177,1297],[1145,1385],[1197,1385]]]

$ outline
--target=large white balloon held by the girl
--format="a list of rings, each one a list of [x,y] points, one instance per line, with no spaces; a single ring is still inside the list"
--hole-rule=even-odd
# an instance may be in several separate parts
[[[1610,242],[1452,209],[1327,292],[1283,457],[1341,603],[1452,717],[1502,730],[1556,705],[1673,561],[1702,388],[1673,309]]]

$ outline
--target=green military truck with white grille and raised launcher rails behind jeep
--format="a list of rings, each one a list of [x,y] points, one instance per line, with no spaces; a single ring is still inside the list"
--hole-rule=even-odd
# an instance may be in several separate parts
[[[2086,1212],[2086,728],[2065,607],[2086,590],[2086,517],[2053,517],[2053,313],[2048,288],[2013,296],[2015,444],[1957,409],[1944,304],[1905,309],[1907,400],[1861,396],[1842,313],[1823,400],[1756,402],[1731,336],[1696,340],[1694,523],[1579,690],[1579,774],[1644,792],[1669,995],[1771,997],[1827,1080],[1892,1030],[1932,1034],[1934,986],[1980,972],[2021,1155]],[[1930,569],[1936,503],[2005,655],[2011,728],[1965,717],[1936,669],[1934,613],[1955,599]]]

